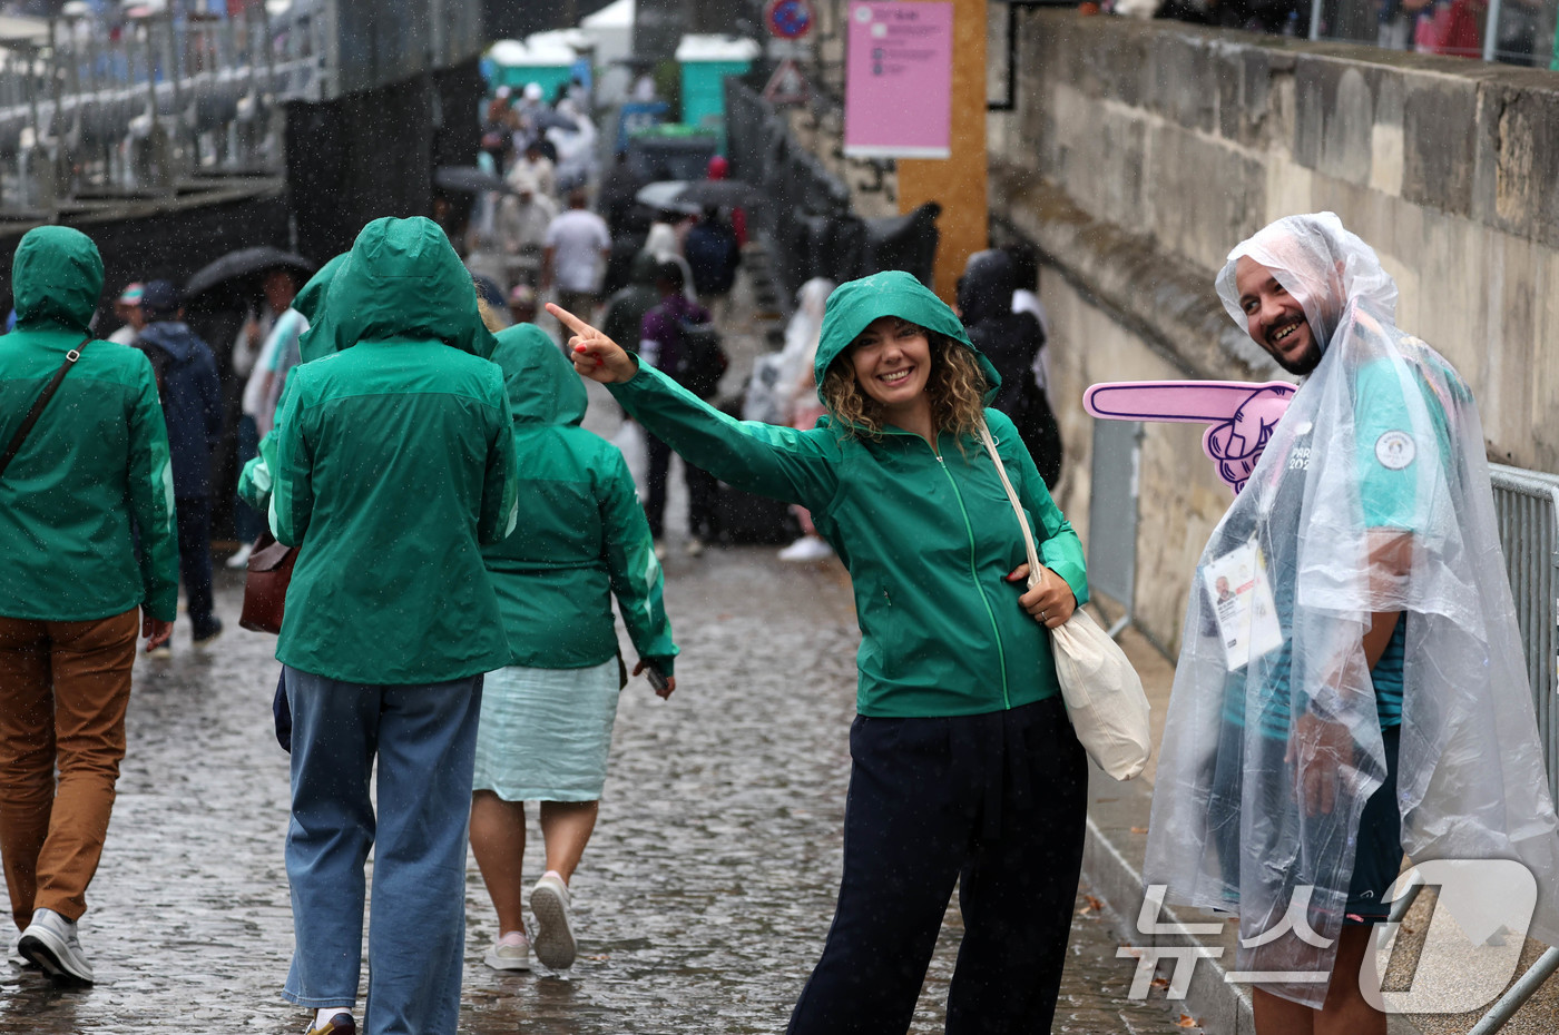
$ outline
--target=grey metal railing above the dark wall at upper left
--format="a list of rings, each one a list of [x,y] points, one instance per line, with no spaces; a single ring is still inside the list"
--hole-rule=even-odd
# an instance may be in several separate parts
[[[324,19],[56,17],[0,41],[0,215],[173,193],[196,173],[279,171],[287,100],[320,100]]]

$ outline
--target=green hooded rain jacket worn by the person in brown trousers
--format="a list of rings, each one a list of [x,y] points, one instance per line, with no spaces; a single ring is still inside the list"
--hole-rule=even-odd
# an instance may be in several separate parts
[[[86,234],[41,226],[16,249],[11,287],[17,326],[0,338],[0,450],[65,352],[89,337],[103,260]],[[179,561],[168,432],[139,349],[97,340],[83,348],[0,475],[0,572],[6,617],[87,622],[140,605],[173,620]]]

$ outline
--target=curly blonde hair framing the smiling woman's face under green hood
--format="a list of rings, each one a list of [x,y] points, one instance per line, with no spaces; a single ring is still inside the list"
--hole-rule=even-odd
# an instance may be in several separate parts
[[[924,327],[920,330],[931,344],[931,376],[926,380],[931,422],[939,435],[951,433],[962,449],[967,436],[979,435],[990,382],[973,349],[945,334]],[[823,405],[828,407],[840,433],[878,438],[882,435],[882,404],[862,391],[856,382],[854,366],[847,359],[851,348],[854,346],[840,352],[823,374]]]

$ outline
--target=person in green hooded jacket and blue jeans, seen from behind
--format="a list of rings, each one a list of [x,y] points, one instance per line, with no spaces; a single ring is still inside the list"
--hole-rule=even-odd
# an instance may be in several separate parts
[[[510,659],[480,552],[516,524],[508,397],[432,220],[363,228],[321,332],[326,354],[288,377],[270,500],[298,547],[276,645],[293,719],[282,994],[315,1010],[315,1035],[357,1030],[373,848],[362,1030],[454,1032],[482,675]]]

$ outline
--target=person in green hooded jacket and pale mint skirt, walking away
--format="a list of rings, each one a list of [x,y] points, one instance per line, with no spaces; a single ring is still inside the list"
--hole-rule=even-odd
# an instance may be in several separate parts
[[[482,689],[471,797],[471,850],[497,910],[494,970],[530,966],[524,923],[525,801],[541,803],[547,868],[530,895],[536,959],[574,963],[569,878],[596,826],[622,662],[611,616],[617,597],[628,638],[677,687],[677,647],[661,595],[661,566],[622,452],[585,419],[585,385],[535,324],[497,334],[514,413],[524,527],[485,547],[508,633],[508,664]]]

